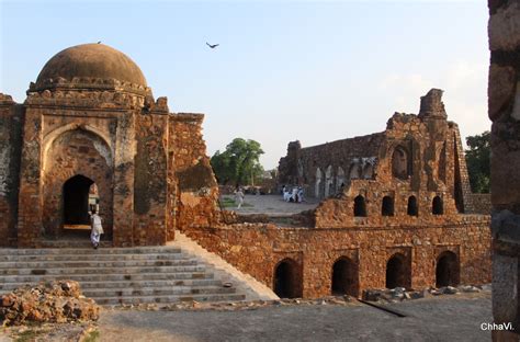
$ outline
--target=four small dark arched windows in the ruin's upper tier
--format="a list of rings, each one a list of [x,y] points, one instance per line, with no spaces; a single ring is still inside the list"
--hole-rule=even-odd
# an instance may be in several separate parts
[[[362,195],[358,195],[354,198],[354,216],[366,217],[366,203]],[[384,196],[381,203],[381,215],[382,216],[394,216],[394,197]],[[417,203],[417,197],[411,195],[408,197],[406,214],[408,216],[419,216],[419,205]],[[431,202],[431,214],[433,215],[443,215],[444,205],[440,196],[434,196]]]

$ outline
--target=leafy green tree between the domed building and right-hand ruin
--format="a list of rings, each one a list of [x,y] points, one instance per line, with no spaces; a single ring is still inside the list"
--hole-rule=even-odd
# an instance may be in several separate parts
[[[218,183],[255,185],[263,172],[261,155],[263,150],[258,141],[235,138],[224,152],[216,151],[211,159]]]

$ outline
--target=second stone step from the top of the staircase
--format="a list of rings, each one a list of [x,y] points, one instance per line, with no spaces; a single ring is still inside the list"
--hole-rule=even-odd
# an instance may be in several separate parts
[[[185,253],[150,253],[150,254],[38,254],[38,255],[0,255],[1,262],[29,261],[125,261],[125,260],[185,260]]]

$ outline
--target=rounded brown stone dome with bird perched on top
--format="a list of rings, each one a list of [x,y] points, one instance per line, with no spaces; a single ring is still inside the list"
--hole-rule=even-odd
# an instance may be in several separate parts
[[[78,86],[87,86],[88,82],[147,88],[139,67],[125,54],[103,44],[82,44],[59,52],[45,64],[34,86],[35,90],[67,83],[84,88]]]

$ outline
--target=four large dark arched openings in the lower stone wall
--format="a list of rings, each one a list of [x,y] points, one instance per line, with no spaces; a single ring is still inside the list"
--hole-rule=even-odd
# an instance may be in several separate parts
[[[302,297],[302,277],[298,264],[291,258],[274,267],[273,289],[280,298]],[[386,288],[411,287],[411,269],[408,258],[394,253],[386,263]],[[452,251],[443,251],[436,261],[436,286],[456,286],[460,283],[460,263]],[[330,294],[359,296],[359,266],[348,256],[340,256],[331,267]]]

